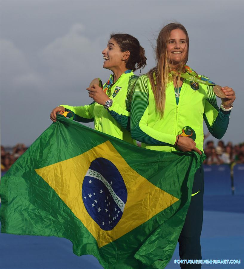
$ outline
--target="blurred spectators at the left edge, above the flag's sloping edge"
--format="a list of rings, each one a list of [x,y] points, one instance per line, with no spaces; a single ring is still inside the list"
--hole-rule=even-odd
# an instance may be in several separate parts
[[[24,144],[17,144],[13,148],[8,149],[8,151],[1,146],[1,171],[7,171],[26,150],[27,147]]]

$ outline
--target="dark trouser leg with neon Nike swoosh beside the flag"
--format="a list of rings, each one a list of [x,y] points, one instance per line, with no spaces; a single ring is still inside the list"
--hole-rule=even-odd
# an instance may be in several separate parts
[[[203,218],[203,191],[204,191],[204,172],[201,166],[194,176],[191,203],[187,211],[185,223],[180,233],[179,256],[182,260],[202,259],[200,235],[202,231]],[[201,264],[180,264],[182,269],[199,269]]]

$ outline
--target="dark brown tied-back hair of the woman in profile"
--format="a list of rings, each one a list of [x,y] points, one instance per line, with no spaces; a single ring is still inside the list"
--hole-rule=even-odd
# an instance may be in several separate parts
[[[126,68],[135,71],[146,66],[145,50],[135,37],[129,34],[111,34],[110,38],[116,41],[122,52],[130,51],[130,57],[126,60]]]

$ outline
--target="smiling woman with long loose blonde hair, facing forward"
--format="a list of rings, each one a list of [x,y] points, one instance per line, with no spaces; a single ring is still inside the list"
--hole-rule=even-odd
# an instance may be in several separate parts
[[[136,81],[131,102],[131,136],[142,148],[157,151],[203,151],[203,120],[210,133],[221,139],[229,123],[235,92],[220,90],[219,109],[214,83],[186,65],[189,38],[179,23],[166,25],[156,46],[157,65]],[[180,171],[179,171],[180,172]],[[203,168],[194,177],[192,198],[179,235],[181,259],[201,259],[200,235],[203,218]],[[200,264],[180,264],[200,268]]]

